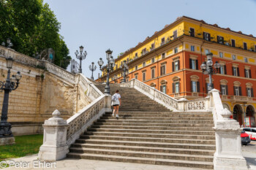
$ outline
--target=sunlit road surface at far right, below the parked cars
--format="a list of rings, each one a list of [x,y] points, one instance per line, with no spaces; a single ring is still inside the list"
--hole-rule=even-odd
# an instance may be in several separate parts
[[[256,170],[256,141],[242,145],[242,153],[250,169]]]

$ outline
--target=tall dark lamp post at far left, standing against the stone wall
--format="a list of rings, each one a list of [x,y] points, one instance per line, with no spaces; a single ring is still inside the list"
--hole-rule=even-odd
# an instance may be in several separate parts
[[[7,122],[8,118],[8,102],[9,102],[9,93],[12,90],[16,90],[21,79],[20,72],[17,72],[16,75],[10,77],[10,70],[12,69],[13,59],[11,57],[7,58],[7,80],[5,82],[0,81],[0,91],[4,90],[4,101],[3,107],[1,109],[1,122],[0,122],[0,138],[12,137],[12,125]]]

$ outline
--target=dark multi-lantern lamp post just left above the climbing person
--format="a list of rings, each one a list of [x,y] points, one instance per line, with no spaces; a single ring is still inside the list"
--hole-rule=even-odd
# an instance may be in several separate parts
[[[109,74],[110,74],[110,71],[112,71],[113,67],[115,66],[115,60],[113,59],[113,56],[111,56],[112,52],[113,51],[111,51],[110,49],[106,50],[106,58],[107,58],[108,64],[105,69],[105,71],[107,71],[107,82],[104,90],[105,95],[110,95]],[[102,70],[103,72],[104,70],[102,69],[102,65],[104,64],[104,62],[102,61],[102,58],[99,58],[98,64],[99,64],[99,69]]]

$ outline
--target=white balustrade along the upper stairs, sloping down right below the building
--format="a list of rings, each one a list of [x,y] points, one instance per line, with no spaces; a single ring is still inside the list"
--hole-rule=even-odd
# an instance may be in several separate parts
[[[146,85],[139,80],[132,79],[127,83],[122,84],[123,87],[135,88],[139,90],[141,93],[144,93],[149,98],[152,98],[154,101],[157,101],[159,104],[167,107],[167,109],[178,111],[178,100],[168,96],[161,91],[151,88],[149,85]]]

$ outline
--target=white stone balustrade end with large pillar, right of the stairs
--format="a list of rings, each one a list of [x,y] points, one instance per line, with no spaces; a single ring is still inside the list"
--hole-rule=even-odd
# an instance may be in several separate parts
[[[246,160],[241,153],[241,129],[239,123],[230,119],[231,112],[223,108],[219,90],[213,89],[209,94],[209,107],[214,117],[216,136],[214,169],[247,169]]]

